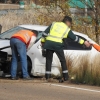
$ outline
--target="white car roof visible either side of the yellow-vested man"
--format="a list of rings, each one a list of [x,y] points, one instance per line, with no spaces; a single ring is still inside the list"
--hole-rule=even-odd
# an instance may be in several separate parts
[[[45,31],[45,29],[48,26],[44,26],[44,25],[19,25],[19,27],[23,27],[23,28],[31,29],[31,30],[36,30],[36,31]],[[73,31],[73,33],[76,34],[76,35],[85,37],[85,38],[88,37],[87,35],[85,35],[83,33],[76,32],[76,31]]]

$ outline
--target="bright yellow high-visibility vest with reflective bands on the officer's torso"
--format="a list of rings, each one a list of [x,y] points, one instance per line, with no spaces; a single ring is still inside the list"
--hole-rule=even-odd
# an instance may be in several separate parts
[[[70,28],[63,22],[54,22],[46,40],[62,43],[63,38],[67,38],[69,31]]]

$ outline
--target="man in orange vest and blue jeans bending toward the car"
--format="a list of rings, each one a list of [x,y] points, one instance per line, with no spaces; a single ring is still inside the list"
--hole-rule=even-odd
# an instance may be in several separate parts
[[[36,40],[36,33],[30,30],[20,30],[15,33],[10,39],[10,46],[12,50],[12,62],[11,62],[11,79],[17,80],[17,62],[18,55],[22,66],[23,79],[31,80],[27,71],[27,53]]]

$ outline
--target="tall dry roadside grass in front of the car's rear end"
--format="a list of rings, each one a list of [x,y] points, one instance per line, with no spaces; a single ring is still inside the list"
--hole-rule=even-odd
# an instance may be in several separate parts
[[[100,86],[100,54],[90,60],[89,55],[68,58],[70,77],[74,82]]]

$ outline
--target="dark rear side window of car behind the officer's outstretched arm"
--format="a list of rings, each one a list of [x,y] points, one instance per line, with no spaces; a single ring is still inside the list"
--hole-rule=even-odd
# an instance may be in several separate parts
[[[78,37],[86,40],[84,37],[81,36]],[[86,47],[85,45],[81,45],[70,38],[64,39],[64,44],[65,44],[64,50],[91,50],[92,49],[92,46]]]

